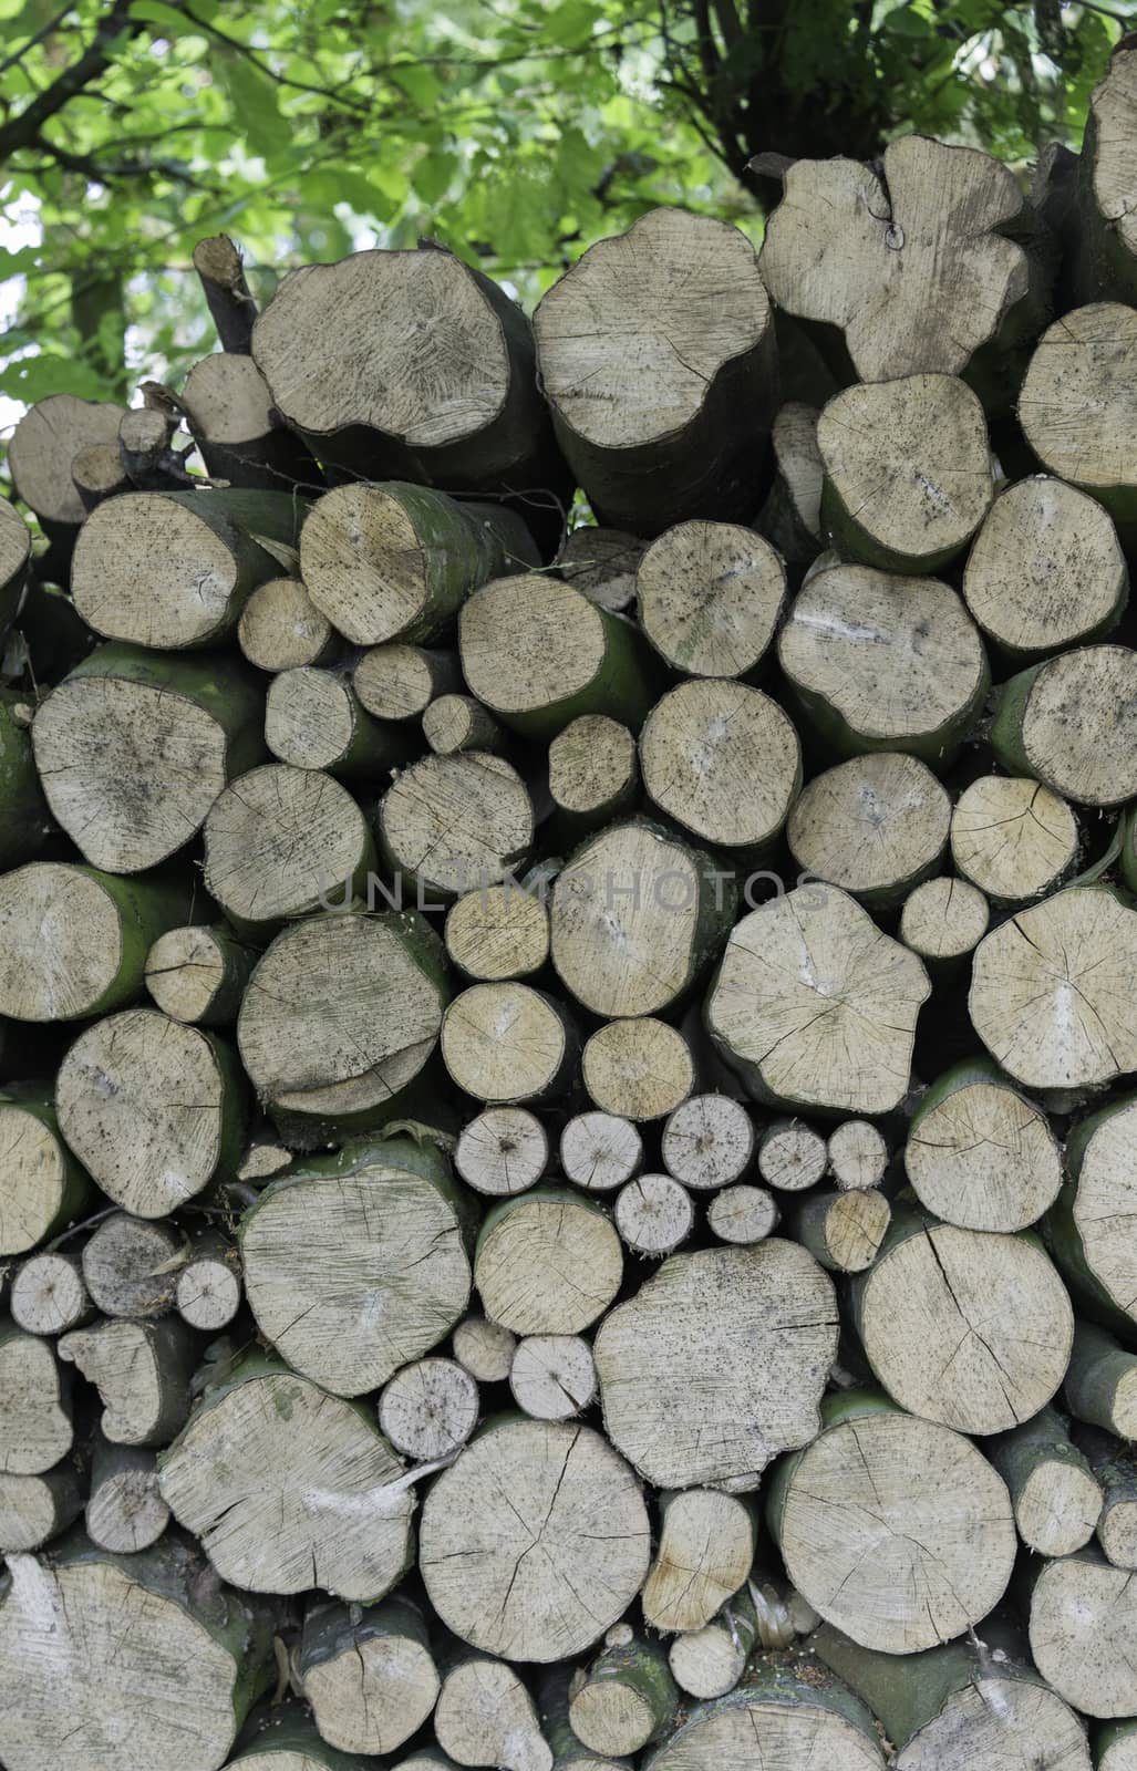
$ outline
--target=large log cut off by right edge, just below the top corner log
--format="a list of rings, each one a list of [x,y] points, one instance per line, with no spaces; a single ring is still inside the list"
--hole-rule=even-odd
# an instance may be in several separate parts
[[[1018,395],[1018,421],[1034,455],[1105,505],[1123,528],[1137,515],[1130,448],[1132,356],[1137,312],[1094,301],[1045,331]]]

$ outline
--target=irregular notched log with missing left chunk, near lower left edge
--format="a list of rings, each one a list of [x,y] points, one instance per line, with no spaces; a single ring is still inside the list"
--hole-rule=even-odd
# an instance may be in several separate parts
[[[103,1321],[73,1328],[58,1357],[94,1383],[99,1422],[115,1445],[168,1445],[190,1415],[197,1341],[177,1316],[161,1321]]]

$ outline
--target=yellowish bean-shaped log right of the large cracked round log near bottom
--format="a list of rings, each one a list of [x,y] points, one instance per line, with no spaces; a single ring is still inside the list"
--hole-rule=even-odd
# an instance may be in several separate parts
[[[737,1495],[689,1488],[659,1504],[659,1548],[641,1601],[652,1629],[703,1629],[733,1599],[754,1562],[758,1525]]]

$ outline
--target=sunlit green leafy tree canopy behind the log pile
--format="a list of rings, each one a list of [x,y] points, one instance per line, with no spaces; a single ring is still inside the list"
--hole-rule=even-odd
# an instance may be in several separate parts
[[[754,154],[919,129],[1077,145],[1133,0],[0,0],[0,395],[122,397],[213,349],[193,243],[280,269],[427,234],[522,296],[661,202],[739,221]],[[27,239],[27,243],[21,243]]]

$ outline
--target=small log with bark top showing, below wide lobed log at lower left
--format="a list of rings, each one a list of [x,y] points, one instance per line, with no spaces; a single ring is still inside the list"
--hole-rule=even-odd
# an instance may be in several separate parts
[[[299,1682],[321,1739],[345,1753],[390,1753],[427,1720],[439,1695],[422,1612],[407,1599],[367,1610],[308,1603]]]

